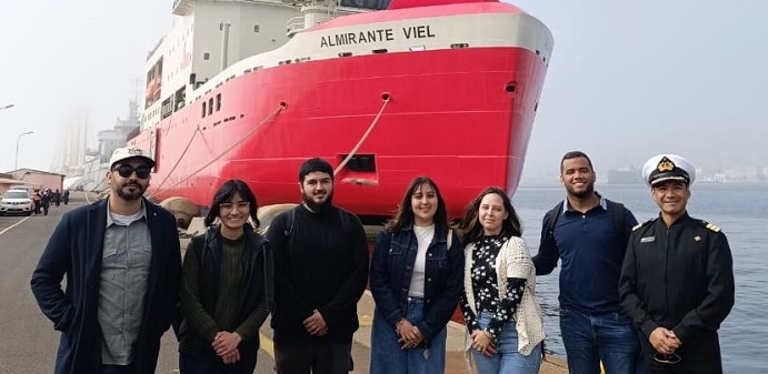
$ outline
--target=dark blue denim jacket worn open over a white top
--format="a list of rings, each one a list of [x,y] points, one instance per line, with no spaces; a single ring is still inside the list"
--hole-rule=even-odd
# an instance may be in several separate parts
[[[425,271],[425,319],[417,325],[430,341],[450,321],[462,290],[463,251],[453,234],[447,247],[448,228],[435,228],[427,249]],[[399,232],[382,231],[376,241],[370,269],[370,290],[376,307],[392,325],[406,316],[418,243],[411,224]]]

